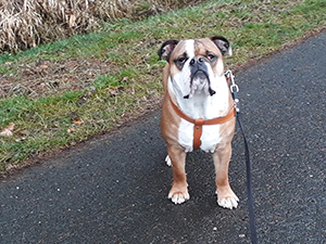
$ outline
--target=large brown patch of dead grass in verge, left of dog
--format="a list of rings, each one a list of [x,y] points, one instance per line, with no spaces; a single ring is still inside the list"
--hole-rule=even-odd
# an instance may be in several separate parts
[[[13,65],[8,62],[5,65]],[[60,91],[82,90],[99,75],[112,74],[114,66],[102,60],[38,60],[20,65],[16,74],[1,77],[0,97],[27,94],[39,98]]]

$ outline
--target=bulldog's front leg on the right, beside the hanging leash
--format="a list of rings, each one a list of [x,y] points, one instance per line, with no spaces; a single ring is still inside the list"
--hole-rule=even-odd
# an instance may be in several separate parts
[[[228,182],[228,165],[231,157],[230,142],[216,149],[213,159],[216,172],[217,204],[225,208],[237,208],[239,198],[231,190]]]

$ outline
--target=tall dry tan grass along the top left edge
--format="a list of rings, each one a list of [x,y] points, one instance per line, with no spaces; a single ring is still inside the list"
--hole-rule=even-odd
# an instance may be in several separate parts
[[[202,0],[0,0],[0,52],[85,34],[101,21],[138,20]]]

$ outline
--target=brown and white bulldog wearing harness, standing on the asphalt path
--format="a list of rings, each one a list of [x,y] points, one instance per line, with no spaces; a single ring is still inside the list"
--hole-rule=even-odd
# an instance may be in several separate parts
[[[217,204],[236,208],[239,198],[228,181],[235,103],[224,75],[223,56],[231,55],[221,36],[167,40],[158,54],[166,60],[163,70],[164,102],[161,132],[167,144],[167,165],[173,168],[168,198],[175,204],[189,200],[186,154],[196,149],[213,155]]]

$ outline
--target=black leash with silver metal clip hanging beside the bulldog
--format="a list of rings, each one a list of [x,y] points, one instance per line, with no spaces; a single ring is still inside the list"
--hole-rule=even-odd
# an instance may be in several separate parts
[[[239,88],[234,81],[234,75],[230,70],[226,72],[226,77],[230,78],[230,91],[233,94],[233,99],[236,103],[236,112],[237,112],[237,120],[242,132],[243,142],[244,142],[244,156],[246,156],[246,166],[247,166],[247,193],[248,193],[248,209],[249,209],[249,222],[250,222],[250,236],[251,243],[256,244],[256,230],[255,230],[255,220],[254,220],[254,210],[253,210],[253,197],[252,197],[252,187],[251,187],[251,160],[249,154],[249,146],[246,139],[243,126],[242,126],[242,115],[240,113],[240,104],[238,98]]]

